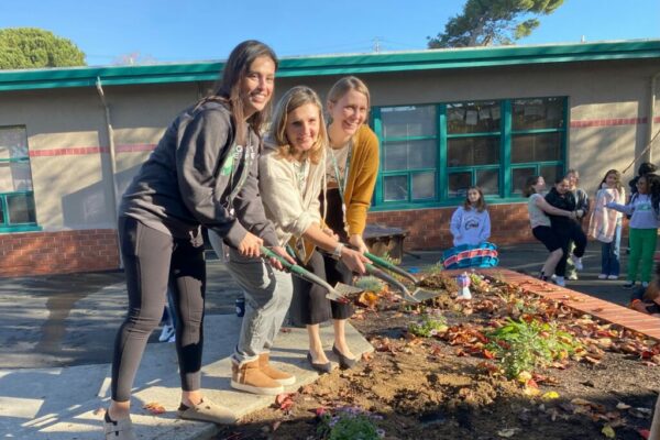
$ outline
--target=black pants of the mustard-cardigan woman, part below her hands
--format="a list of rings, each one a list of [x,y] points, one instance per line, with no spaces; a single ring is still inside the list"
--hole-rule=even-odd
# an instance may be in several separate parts
[[[314,251],[309,262],[304,267],[326,279],[331,286],[337,283],[352,284],[353,280],[353,274],[341,261],[329,255],[321,255],[318,251]],[[294,276],[294,292],[296,293],[295,298],[300,301],[296,306],[300,308],[300,318],[304,324],[321,323],[330,318],[348,319],[353,315],[353,308],[350,304],[327,299],[327,290],[318,284],[311,284]]]

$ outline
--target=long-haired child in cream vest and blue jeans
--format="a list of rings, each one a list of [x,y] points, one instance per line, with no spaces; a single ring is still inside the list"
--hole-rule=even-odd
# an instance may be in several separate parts
[[[588,234],[601,242],[601,275],[598,279],[617,279],[619,275],[619,248],[622,242],[623,215],[606,205],[623,205],[626,191],[622,185],[622,174],[609,169],[601,180],[596,202],[588,224]]]

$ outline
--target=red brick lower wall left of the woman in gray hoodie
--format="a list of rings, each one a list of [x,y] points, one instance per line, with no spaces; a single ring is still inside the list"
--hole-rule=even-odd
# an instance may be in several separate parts
[[[0,277],[116,268],[119,250],[113,229],[0,234]]]

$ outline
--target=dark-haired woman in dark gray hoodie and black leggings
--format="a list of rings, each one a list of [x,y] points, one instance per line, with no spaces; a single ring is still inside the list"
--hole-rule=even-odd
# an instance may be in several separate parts
[[[106,438],[132,440],[131,388],[167,286],[177,316],[182,399],[178,416],[232,422],[233,414],[200,392],[206,263],[200,227],[244,256],[277,246],[257,189],[258,131],[273,95],[277,58],[263,43],[239,44],[216,92],[183,111],[123,195],[119,239],[129,314],[114,342]],[[278,264],[277,264],[278,265]],[[282,265],[278,265],[282,268]]]

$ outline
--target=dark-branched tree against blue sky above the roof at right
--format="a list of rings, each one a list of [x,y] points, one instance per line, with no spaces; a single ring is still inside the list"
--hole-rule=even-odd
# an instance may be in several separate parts
[[[529,35],[539,21],[563,0],[468,0],[463,12],[444,25],[444,32],[431,38],[429,48],[513,44]],[[521,19],[526,19],[520,21]]]

